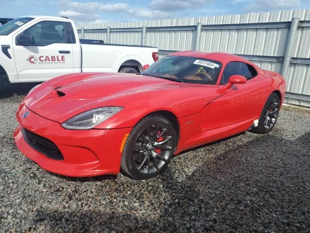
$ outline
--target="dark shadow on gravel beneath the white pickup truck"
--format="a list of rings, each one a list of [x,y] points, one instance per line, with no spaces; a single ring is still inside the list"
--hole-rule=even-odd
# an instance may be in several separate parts
[[[14,95],[26,96],[32,87],[40,83],[22,83],[22,84],[12,84],[3,88],[2,93],[0,93],[0,100],[7,99]]]

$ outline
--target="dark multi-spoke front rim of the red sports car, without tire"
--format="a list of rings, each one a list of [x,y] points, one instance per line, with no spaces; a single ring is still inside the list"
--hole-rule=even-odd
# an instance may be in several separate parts
[[[172,132],[163,123],[145,127],[138,135],[132,151],[132,164],[141,174],[148,175],[161,170],[173,152]]]

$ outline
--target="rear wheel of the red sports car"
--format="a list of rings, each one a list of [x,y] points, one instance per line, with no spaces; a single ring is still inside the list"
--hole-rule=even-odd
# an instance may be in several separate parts
[[[276,93],[272,93],[266,101],[261,116],[258,121],[258,126],[251,131],[255,133],[269,133],[275,126],[279,116],[280,100]]]

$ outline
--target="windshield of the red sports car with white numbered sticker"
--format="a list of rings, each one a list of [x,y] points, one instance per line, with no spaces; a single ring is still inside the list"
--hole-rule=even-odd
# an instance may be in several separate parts
[[[216,84],[221,66],[220,62],[205,58],[166,56],[144,74],[182,83]]]

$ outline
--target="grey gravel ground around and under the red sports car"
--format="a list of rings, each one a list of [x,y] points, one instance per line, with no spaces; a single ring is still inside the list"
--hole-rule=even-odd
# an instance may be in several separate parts
[[[31,85],[0,97],[1,232],[310,232],[310,110],[285,107],[267,135],[175,156],[151,180],[66,178],[14,144]]]

